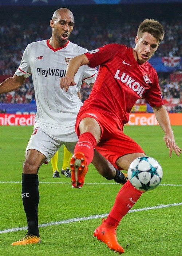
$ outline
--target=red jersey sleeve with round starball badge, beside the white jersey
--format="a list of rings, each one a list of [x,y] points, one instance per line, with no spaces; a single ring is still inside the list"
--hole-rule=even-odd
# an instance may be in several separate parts
[[[94,68],[112,59],[120,47],[119,44],[108,44],[85,53],[90,62],[88,66]]]

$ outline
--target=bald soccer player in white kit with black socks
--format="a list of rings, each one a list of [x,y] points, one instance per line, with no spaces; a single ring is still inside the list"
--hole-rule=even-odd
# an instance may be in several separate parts
[[[6,79],[0,85],[0,93],[13,91],[32,75],[37,105],[35,126],[26,148],[22,174],[21,197],[27,217],[28,232],[25,237],[13,242],[12,245],[40,242],[38,170],[44,162],[50,161],[62,144],[69,151],[74,152],[78,141],[75,121],[82,106],[77,93],[82,79],[87,84],[93,84],[97,75],[95,69],[85,65],[79,68],[75,76],[75,86],[70,87],[67,92],[60,89],[59,81],[66,73],[69,60],[87,50],[68,40],[74,27],[74,16],[67,8],[60,8],[54,12],[50,26],[51,38],[29,44],[13,77]],[[114,179],[116,182],[119,179],[125,181],[125,177],[120,177],[122,173],[96,151],[92,163],[104,177]]]

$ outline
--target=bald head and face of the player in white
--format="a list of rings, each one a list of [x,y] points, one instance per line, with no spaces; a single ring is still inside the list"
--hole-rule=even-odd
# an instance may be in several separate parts
[[[60,15],[50,22],[52,33],[60,45],[67,43],[74,27],[74,17],[70,12],[61,12]]]

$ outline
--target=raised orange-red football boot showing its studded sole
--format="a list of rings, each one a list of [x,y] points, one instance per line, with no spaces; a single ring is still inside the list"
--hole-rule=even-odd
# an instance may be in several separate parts
[[[81,188],[84,184],[85,174],[88,171],[83,153],[76,153],[70,160],[72,188]]]

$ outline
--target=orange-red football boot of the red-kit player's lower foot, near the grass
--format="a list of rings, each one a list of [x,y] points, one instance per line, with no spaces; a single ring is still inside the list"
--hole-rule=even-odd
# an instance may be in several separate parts
[[[115,226],[110,226],[104,221],[105,219],[103,218],[102,224],[95,229],[94,237],[97,237],[97,240],[104,242],[110,250],[119,252],[119,254],[124,253],[123,247],[118,244],[116,238],[116,228],[119,225],[119,222]]]

